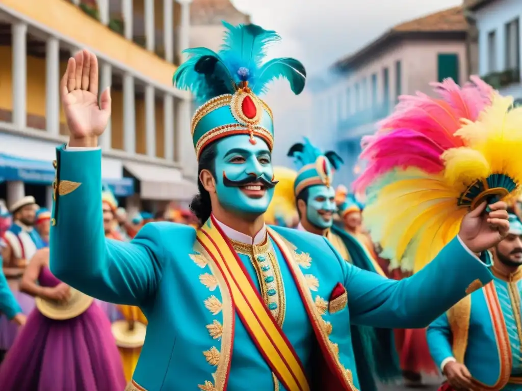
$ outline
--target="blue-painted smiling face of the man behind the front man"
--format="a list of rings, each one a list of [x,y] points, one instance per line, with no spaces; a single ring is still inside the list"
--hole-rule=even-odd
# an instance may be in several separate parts
[[[308,188],[306,219],[320,229],[330,228],[334,223],[335,189],[330,186],[311,186]]]

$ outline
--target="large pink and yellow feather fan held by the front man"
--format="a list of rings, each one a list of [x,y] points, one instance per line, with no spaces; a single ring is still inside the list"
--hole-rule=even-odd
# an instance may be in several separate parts
[[[457,235],[466,213],[516,193],[522,180],[522,109],[477,77],[438,97],[403,96],[364,140],[364,225],[383,258],[417,271]],[[386,216],[386,217],[383,217]]]

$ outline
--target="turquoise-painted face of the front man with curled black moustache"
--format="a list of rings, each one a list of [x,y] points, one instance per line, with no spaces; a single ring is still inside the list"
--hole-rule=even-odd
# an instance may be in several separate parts
[[[274,176],[272,157],[265,141],[256,137],[238,135],[226,137],[217,144],[216,193],[219,203],[227,210],[238,214],[260,215],[266,212],[274,196],[274,188],[266,188],[261,197],[250,197],[244,187],[227,186],[223,175],[231,181],[241,181],[249,177],[271,181]]]

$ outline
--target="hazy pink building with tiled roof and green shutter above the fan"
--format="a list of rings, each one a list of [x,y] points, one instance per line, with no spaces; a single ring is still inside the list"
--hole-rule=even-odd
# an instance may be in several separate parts
[[[466,30],[460,7],[401,23],[313,81],[314,127],[327,130],[345,161],[338,182],[357,176],[361,138],[375,132],[399,95],[431,94],[429,83],[445,78],[465,81]]]

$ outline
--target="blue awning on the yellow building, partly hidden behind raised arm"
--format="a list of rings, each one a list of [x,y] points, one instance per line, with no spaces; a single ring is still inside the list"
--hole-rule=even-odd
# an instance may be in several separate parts
[[[26,159],[0,153],[0,182],[20,180],[26,183],[50,185],[54,181],[52,162]],[[116,197],[134,194],[132,178],[103,179]]]

